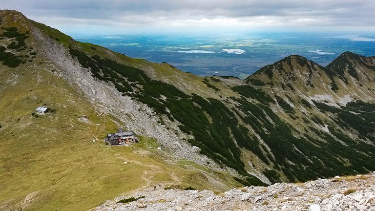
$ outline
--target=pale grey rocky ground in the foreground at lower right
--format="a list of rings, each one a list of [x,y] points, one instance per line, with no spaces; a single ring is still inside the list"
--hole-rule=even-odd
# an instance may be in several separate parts
[[[146,196],[123,204],[118,200]],[[137,190],[93,211],[375,211],[375,172],[300,184],[210,190]]]

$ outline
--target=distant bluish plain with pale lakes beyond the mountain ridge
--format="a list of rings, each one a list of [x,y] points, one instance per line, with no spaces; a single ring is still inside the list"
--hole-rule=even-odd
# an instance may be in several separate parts
[[[199,76],[246,78],[259,68],[297,54],[322,66],[345,51],[375,55],[375,35],[348,33],[248,33],[218,35],[73,35],[133,58],[167,62]]]

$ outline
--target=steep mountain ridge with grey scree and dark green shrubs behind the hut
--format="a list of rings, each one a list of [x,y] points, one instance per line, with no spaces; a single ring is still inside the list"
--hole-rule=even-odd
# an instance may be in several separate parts
[[[65,92],[75,101],[82,98],[96,115],[154,137],[165,149],[150,154],[198,164],[193,169],[204,169],[203,183],[228,187],[228,177],[208,173],[214,171],[230,173],[243,185],[265,185],[374,170],[374,57],[345,52],[322,67],[292,55],[245,80],[202,78],[76,42],[15,11],[0,11],[0,20],[0,93],[62,81],[72,91]],[[25,83],[26,73],[40,83]],[[64,93],[54,84],[44,87],[43,96],[54,99],[54,89]],[[4,102],[10,105],[10,97]],[[77,110],[76,104],[49,103],[69,115]],[[30,106],[22,107],[19,119],[26,120]],[[0,124],[8,120],[2,117]],[[106,134],[98,126],[96,141]]]

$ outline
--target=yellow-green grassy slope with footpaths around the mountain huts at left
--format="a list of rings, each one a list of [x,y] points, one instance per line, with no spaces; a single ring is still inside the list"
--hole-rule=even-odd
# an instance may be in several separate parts
[[[115,119],[97,116],[38,57],[27,70],[24,65],[0,64],[1,209],[20,208],[30,193],[35,194],[25,210],[87,210],[122,192],[159,183],[213,188],[197,170],[148,153],[157,147],[154,140],[141,137],[142,143],[133,148],[104,146],[104,135],[117,128]],[[32,117],[44,104],[56,113]],[[82,115],[92,124],[78,121]],[[237,184],[229,175],[223,177]]]

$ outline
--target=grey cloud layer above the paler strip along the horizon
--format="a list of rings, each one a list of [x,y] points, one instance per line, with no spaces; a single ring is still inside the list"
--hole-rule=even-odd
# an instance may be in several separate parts
[[[375,25],[374,0],[0,0],[0,5],[35,19],[69,19],[72,24],[100,20],[98,24],[157,26],[167,21],[202,19],[244,23],[269,17],[284,21],[286,26],[296,24],[296,20],[307,20],[305,23],[312,26]]]

